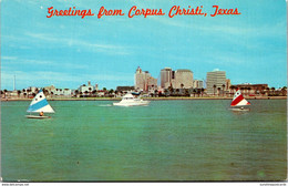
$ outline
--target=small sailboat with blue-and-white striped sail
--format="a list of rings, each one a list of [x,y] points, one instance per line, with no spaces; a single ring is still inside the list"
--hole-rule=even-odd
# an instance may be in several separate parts
[[[43,91],[40,90],[30,103],[27,112],[30,113],[30,115],[27,115],[28,118],[50,118],[51,116],[45,116],[43,113],[54,113],[54,110],[48,103]],[[31,113],[40,113],[40,115],[31,115]]]

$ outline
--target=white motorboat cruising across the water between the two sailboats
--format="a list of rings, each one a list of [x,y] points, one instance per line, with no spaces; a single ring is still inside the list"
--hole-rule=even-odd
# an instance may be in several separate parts
[[[114,106],[141,106],[148,105],[150,101],[144,101],[137,97],[134,97],[131,93],[127,93],[122,97],[122,101],[119,103],[113,103]]]

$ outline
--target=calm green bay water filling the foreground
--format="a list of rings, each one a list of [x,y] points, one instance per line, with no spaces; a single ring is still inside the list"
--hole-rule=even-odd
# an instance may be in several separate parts
[[[287,175],[286,100],[52,101],[50,120],[30,102],[1,103],[4,180],[279,180]]]

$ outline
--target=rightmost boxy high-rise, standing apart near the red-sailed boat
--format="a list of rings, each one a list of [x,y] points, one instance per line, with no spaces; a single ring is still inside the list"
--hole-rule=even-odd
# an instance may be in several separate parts
[[[206,89],[207,94],[217,94],[218,87],[223,90],[223,85],[226,86],[226,72],[215,70],[213,72],[207,72],[207,81],[206,81]],[[216,85],[216,87],[214,87]]]

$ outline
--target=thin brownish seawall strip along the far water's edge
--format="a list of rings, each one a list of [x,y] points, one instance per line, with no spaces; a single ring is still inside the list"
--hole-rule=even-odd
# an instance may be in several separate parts
[[[246,100],[287,100],[287,96],[253,96],[245,97]],[[48,101],[121,101],[121,97],[49,97]],[[169,101],[169,100],[233,100],[233,97],[143,97],[143,100],[147,101]],[[32,99],[0,99],[1,102],[16,102],[16,101],[32,101]]]

